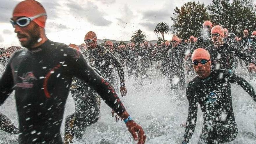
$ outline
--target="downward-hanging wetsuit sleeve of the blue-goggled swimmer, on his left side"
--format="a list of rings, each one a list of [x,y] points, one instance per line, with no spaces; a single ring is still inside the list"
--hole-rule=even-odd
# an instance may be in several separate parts
[[[198,104],[195,99],[195,95],[192,92],[193,89],[189,85],[186,89],[186,96],[189,101],[189,115],[186,121],[186,129],[184,134],[184,140],[188,143],[191,139],[193,132],[195,130],[196,120],[197,120],[197,110]]]

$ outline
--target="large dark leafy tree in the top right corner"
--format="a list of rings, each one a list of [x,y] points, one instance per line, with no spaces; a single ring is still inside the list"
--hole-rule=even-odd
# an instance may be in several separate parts
[[[211,21],[214,24],[227,28],[238,36],[243,35],[243,30],[255,30],[256,10],[253,0],[213,0],[208,6]]]

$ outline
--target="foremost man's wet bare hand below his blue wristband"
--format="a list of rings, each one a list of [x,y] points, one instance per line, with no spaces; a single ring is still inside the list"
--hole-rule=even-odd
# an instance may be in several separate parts
[[[126,123],[126,127],[128,128],[128,131],[131,133],[132,137],[135,141],[138,141],[138,144],[144,144],[146,141],[146,135],[143,131],[142,127],[138,125],[133,120]],[[137,134],[138,136],[137,136]]]

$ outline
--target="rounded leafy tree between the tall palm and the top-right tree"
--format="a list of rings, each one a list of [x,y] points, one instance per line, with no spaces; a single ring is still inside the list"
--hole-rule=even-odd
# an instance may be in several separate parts
[[[188,2],[182,7],[175,8],[173,25],[171,31],[179,38],[188,39],[189,36],[194,35],[198,37],[201,35],[202,24],[209,19],[207,8],[202,3]]]

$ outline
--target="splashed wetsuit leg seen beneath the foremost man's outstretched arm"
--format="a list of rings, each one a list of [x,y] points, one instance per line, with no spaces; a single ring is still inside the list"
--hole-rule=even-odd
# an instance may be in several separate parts
[[[72,142],[74,137],[81,139],[86,127],[97,122],[100,114],[99,95],[88,84],[79,79],[74,81],[71,93],[76,107],[75,112],[66,118],[65,143],[67,144],[68,141]]]

